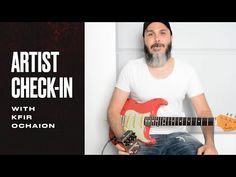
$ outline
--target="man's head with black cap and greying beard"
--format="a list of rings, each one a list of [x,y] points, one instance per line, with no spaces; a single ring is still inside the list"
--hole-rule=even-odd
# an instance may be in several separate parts
[[[143,25],[146,61],[153,67],[163,66],[171,57],[172,30],[168,22],[145,22]]]

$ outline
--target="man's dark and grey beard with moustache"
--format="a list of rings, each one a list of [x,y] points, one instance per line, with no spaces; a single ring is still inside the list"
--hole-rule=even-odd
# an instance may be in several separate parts
[[[151,47],[163,47],[163,44],[153,44]],[[167,45],[166,52],[164,54],[158,54],[154,53],[151,54],[147,48],[147,46],[144,44],[144,52],[145,52],[145,58],[148,65],[151,65],[152,67],[162,67],[168,59],[171,57],[171,49],[172,49],[172,42],[170,42]]]

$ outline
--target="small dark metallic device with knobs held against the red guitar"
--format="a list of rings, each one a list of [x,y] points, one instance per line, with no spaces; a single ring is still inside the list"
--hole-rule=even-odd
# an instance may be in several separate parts
[[[132,130],[127,130],[117,142],[121,143],[129,154],[136,154],[140,148],[137,136]]]

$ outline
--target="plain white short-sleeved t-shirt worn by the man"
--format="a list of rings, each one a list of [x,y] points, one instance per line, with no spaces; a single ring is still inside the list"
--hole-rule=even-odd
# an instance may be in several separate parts
[[[172,73],[157,79],[150,73],[144,58],[129,61],[121,70],[116,87],[130,92],[130,98],[144,103],[154,98],[163,98],[168,105],[160,106],[158,116],[184,117],[183,100],[186,94],[191,98],[203,93],[201,83],[194,69],[175,60]],[[150,134],[185,132],[186,126],[152,126]]]

